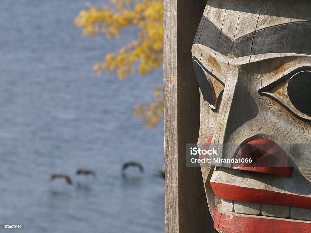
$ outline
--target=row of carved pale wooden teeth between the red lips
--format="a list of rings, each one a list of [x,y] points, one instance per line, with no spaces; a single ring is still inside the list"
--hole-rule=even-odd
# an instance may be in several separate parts
[[[230,212],[311,221],[311,209],[223,199],[221,199],[221,202],[222,207]]]

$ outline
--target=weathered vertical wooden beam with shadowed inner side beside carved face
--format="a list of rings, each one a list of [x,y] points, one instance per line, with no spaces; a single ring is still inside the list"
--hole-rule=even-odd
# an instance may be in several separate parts
[[[196,143],[200,98],[191,47],[205,0],[164,0],[164,129],[166,233],[207,231],[200,168],[186,168],[186,144]]]

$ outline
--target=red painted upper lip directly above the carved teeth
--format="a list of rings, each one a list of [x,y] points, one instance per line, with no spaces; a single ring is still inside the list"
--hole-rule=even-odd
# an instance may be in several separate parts
[[[310,197],[215,182],[210,183],[216,197],[221,199],[311,209]]]

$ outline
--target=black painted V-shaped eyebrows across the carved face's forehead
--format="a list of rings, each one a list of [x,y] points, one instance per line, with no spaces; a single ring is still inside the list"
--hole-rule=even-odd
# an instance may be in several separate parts
[[[205,45],[225,56],[264,53],[311,54],[311,22],[276,25],[242,36],[233,41],[205,16],[202,16],[193,43]]]

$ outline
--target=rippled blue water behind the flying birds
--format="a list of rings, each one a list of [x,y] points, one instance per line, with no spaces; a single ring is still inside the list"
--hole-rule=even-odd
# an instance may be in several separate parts
[[[0,224],[6,232],[164,232],[163,122],[145,130],[133,104],[153,101],[163,71],[120,81],[92,70],[124,43],[81,38],[86,0],[2,0],[0,7]],[[88,1],[105,4],[108,1]],[[140,161],[145,172],[123,162]],[[75,175],[77,168],[95,179]],[[73,180],[49,180],[63,172]]]

